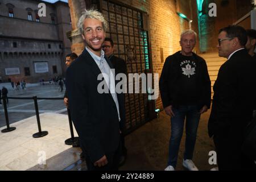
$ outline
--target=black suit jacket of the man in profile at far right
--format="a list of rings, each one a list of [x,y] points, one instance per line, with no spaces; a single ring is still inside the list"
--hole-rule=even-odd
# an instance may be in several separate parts
[[[255,101],[255,67],[246,49],[235,52],[221,65],[213,86],[209,136],[243,133]]]

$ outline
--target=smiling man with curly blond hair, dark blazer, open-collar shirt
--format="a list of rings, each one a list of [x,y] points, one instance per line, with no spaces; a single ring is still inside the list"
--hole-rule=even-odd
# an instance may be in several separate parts
[[[67,69],[68,105],[88,170],[117,170],[121,152],[125,108],[123,94],[113,89],[112,64],[102,51],[107,26],[98,11],[82,14],[77,27],[86,47]]]

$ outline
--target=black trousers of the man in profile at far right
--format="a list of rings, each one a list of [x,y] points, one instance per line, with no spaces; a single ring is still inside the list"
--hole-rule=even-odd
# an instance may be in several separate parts
[[[254,161],[242,154],[242,137],[229,134],[214,135],[219,171],[255,170]]]

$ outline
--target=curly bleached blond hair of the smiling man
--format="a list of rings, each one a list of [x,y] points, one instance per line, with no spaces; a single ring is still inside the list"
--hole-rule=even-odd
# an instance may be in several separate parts
[[[79,28],[80,34],[84,34],[84,20],[86,18],[95,18],[97,20],[100,20],[103,26],[104,31],[108,28],[108,22],[105,20],[104,16],[96,11],[96,10],[85,10],[82,15],[79,18],[79,21],[77,23],[77,27]]]

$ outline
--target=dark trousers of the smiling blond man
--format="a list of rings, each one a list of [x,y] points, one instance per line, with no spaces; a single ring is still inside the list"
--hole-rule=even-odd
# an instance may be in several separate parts
[[[119,146],[115,152],[105,154],[106,158],[108,159],[108,164],[102,167],[94,166],[89,156],[85,154],[85,161],[88,171],[118,171],[121,150],[121,142],[119,142]]]

